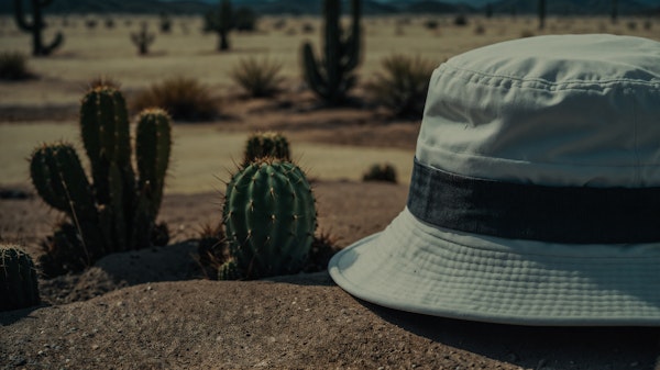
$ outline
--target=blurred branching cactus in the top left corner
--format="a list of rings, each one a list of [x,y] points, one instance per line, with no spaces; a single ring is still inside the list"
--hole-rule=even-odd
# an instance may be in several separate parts
[[[14,18],[19,29],[32,33],[32,55],[46,56],[53,53],[64,42],[64,36],[61,32],[55,35],[53,42],[45,45],[42,40],[42,31],[46,27],[44,22],[42,8],[50,5],[53,0],[31,0],[32,23],[28,21],[23,9],[23,0],[14,0]]]

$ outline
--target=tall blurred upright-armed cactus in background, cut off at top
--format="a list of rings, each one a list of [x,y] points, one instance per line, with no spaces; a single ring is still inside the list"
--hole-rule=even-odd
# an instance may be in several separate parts
[[[340,0],[324,0],[324,56],[317,61],[309,43],[302,45],[305,81],[329,105],[345,101],[355,86],[353,69],[360,64],[360,0],[351,0],[352,26],[345,33],[340,27]]]

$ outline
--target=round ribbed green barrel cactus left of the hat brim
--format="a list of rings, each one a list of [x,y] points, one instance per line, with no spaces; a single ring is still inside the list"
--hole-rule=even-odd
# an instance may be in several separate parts
[[[243,278],[299,272],[317,226],[305,173],[273,158],[248,165],[227,186],[223,224],[229,260]]]

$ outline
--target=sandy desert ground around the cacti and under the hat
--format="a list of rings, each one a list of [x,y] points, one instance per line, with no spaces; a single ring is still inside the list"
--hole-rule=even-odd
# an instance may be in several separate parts
[[[320,109],[300,78],[302,42],[320,42],[317,18],[266,18],[260,31],[231,34],[232,49],[217,53],[216,36],[198,19],[175,20],[156,35],[148,56],[136,55],[129,34],[155,18],[116,15],[95,30],[54,18],[46,40],[62,30],[53,56],[31,58],[37,76],[0,81],[0,190],[26,195],[0,199],[0,240],[34,256],[61,215],[34,195],[26,158],[40,143],[79,146],[77,108],[90,79],[119,81],[129,100],[166,77],[196,78],[222,103],[222,119],[175,123],[172,170],[161,220],[173,242],[164,248],[108,256],[80,274],[42,280],[41,306],[0,313],[0,369],[654,369],[660,330],[653,328],[549,328],[469,323],[396,312],[355,300],[327,272],[267,281],[211,281],[196,264],[205,224],[220,221],[222,181],[242,156],[245,137],[276,130],[314,180],[319,231],[339,246],[382,231],[404,208],[419,119],[393,117],[364,103]],[[660,20],[471,18],[364,20],[364,56],[358,70],[369,81],[394,53],[442,63],[499,41],[549,33],[616,33],[660,40]],[[276,27],[284,20],[284,26]],[[311,24],[312,33],[302,26]],[[483,31],[483,32],[482,32]],[[30,52],[12,19],[0,19],[0,52]],[[229,78],[245,57],[283,64],[284,91],[246,99]],[[363,101],[361,87],[355,96]],[[361,182],[375,162],[391,162],[399,183]],[[658,365],[658,367],[657,367]]]

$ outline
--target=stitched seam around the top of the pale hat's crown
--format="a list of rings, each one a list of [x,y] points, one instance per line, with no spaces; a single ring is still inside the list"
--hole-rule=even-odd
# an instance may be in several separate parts
[[[645,80],[639,80],[639,79],[634,80],[634,79],[627,79],[627,78],[618,78],[618,79],[593,80],[593,81],[590,81],[590,80],[565,80],[565,81],[561,81],[561,82],[552,82],[552,81],[549,81],[549,80],[542,79],[542,78],[521,78],[521,77],[517,77],[517,76],[486,74],[483,71],[477,71],[477,70],[472,70],[472,69],[468,69],[468,68],[452,66],[448,63],[446,63],[444,66],[447,68],[453,68],[454,69],[453,72],[450,70],[448,70],[447,72],[452,74],[452,76],[454,76],[457,78],[460,78],[462,80],[465,80],[465,81],[472,82],[472,83],[493,86],[493,87],[502,87],[502,85],[503,85],[502,82],[504,82],[504,80],[508,80],[510,86],[515,86],[515,87],[525,86],[526,88],[537,89],[537,90],[546,90],[546,91],[548,91],[548,90],[550,90],[550,91],[558,91],[558,90],[590,91],[590,90],[593,90],[594,86],[598,86],[601,88],[607,88],[607,87],[610,87],[612,85],[618,85],[618,83],[626,83],[629,86],[645,86],[645,87],[660,89],[660,82],[658,80],[645,81]],[[469,74],[472,74],[473,76],[472,77],[462,76],[462,74],[459,74],[459,72],[469,72]],[[480,81],[479,82],[475,81],[474,77],[480,77]],[[499,83],[492,83],[491,81],[483,81],[484,78],[498,79]],[[537,83],[537,85],[541,85],[541,86],[535,86],[531,83]],[[581,86],[575,86],[575,85],[581,85]]]

